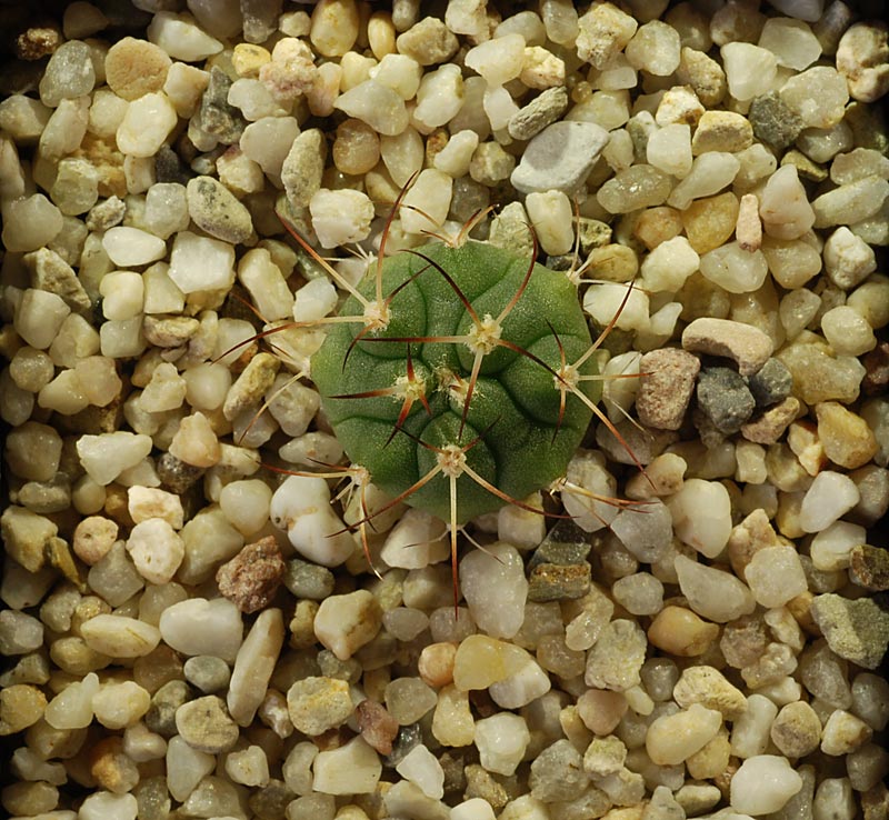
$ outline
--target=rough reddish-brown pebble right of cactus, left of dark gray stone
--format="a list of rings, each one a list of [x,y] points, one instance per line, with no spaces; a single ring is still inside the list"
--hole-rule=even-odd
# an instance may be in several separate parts
[[[646,353],[639,369],[639,421],[658,430],[678,430],[695,392],[700,360],[685,350],[663,348]]]

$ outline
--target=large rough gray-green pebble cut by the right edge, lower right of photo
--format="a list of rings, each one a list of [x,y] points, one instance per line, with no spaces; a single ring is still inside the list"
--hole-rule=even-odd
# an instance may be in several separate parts
[[[833,593],[816,596],[811,617],[828,646],[840,658],[865,669],[876,669],[889,643],[889,617],[870,598],[847,599]]]

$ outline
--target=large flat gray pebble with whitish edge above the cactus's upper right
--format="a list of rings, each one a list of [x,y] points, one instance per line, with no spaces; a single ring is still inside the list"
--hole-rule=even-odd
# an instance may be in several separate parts
[[[608,131],[593,122],[553,122],[525,149],[512,171],[512,184],[522,193],[552,189],[575,192],[608,143]]]

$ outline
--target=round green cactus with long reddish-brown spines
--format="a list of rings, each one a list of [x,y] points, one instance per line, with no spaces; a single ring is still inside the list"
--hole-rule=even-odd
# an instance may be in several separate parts
[[[455,529],[565,476],[601,391],[565,273],[437,241],[386,258],[339,317],[312,380],[352,463],[393,499]]]

